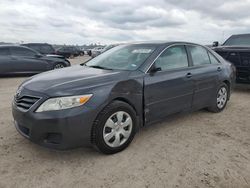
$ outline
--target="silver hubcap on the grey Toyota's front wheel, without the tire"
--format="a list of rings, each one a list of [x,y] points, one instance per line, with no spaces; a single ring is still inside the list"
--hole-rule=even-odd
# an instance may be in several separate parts
[[[103,128],[103,139],[110,147],[123,145],[131,135],[133,121],[131,116],[119,111],[111,115]]]

